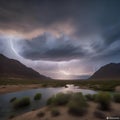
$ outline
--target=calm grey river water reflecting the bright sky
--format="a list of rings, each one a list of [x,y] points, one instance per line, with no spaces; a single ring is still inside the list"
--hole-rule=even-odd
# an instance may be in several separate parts
[[[33,109],[38,109],[46,105],[46,101],[49,97],[52,95],[58,93],[58,92],[82,92],[83,94],[95,94],[96,92],[93,90],[87,90],[87,89],[79,89],[77,86],[74,85],[66,85],[65,87],[58,87],[58,88],[40,88],[40,89],[31,89],[21,92],[13,92],[8,94],[0,95],[0,120],[6,120],[11,114],[22,114],[28,111],[31,111]],[[34,101],[34,95],[36,93],[42,94],[42,99],[38,101]],[[29,107],[25,107],[20,110],[14,110],[12,107],[12,104],[9,102],[11,98],[17,97],[22,98],[28,96],[31,99],[31,105]]]

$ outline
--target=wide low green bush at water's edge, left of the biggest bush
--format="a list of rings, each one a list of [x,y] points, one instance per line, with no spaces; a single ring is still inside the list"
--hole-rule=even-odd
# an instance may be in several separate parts
[[[71,95],[58,93],[47,100],[47,105],[66,105],[69,102]]]

